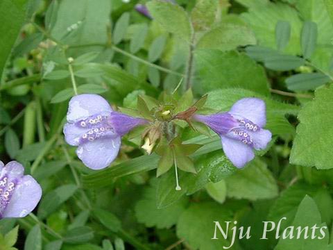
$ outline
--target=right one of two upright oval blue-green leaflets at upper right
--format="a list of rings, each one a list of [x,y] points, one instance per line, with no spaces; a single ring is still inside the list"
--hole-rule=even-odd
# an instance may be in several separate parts
[[[316,49],[318,28],[315,22],[307,21],[302,28],[300,44],[304,58],[309,59]]]

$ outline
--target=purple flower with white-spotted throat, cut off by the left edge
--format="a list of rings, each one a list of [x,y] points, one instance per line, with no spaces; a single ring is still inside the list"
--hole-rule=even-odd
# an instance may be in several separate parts
[[[23,174],[21,164],[12,161],[5,166],[0,160],[0,219],[25,217],[40,201],[40,184]]]

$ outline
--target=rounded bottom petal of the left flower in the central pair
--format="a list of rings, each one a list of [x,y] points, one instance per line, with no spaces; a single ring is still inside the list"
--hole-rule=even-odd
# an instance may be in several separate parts
[[[99,138],[76,149],[78,158],[90,169],[103,169],[117,157],[121,138]]]

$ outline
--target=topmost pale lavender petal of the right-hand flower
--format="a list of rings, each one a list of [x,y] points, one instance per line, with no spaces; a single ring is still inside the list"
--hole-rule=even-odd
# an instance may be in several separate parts
[[[231,115],[239,115],[257,124],[260,128],[266,125],[266,104],[262,99],[240,99],[231,107]]]

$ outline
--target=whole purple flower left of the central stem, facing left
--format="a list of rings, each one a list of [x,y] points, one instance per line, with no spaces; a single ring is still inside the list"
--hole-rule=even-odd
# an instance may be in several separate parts
[[[78,146],[76,154],[90,169],[103,169],[117,157],[121,136],[145,119],[115,112],[108,101],[97,94],[80,94],[69,101],[65,140]]]

